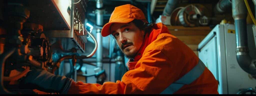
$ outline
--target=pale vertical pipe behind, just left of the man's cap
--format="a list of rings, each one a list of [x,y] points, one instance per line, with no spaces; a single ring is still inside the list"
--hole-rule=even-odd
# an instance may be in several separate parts
[[[96,25],[97,26],[103,26],[103,0],[97,0],[96,1]],[[97,34],[97,42],[98,42],[98,50],[96,52],[96,58],[97,58],[97,67],[102,69],[102,54],[103,54],[103,47],[102,47],[102,36],[101,36],[101,29],[97,28],[96,30]]]

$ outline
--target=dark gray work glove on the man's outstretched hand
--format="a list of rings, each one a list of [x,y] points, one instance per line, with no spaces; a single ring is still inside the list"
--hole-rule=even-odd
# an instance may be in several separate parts
[[[46,70],[32,69],[21,81],[20,88],[37,89],[48,93],[67,94],[73,79],[52,74]]]

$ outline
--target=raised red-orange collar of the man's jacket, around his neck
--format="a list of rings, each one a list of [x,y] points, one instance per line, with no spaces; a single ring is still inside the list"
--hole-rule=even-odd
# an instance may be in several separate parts
[[[135,65],[137,63],[138,60],[141,59],[142,54],[144,52],[144,50],[146,49],[146,47],[153,42],[154,40],[156,40],[156,38],[158,37],[158,35],[160,33],[166,33],[168,31],[167,27],[162,24],[162,23],[157,23],[153,26],[152,30],[150,31],[150,33],[146,33],[145,37],[144,37],[144,41],[143,44],[141,46],[141,48],[139,49],[139,51],[137,52],[136,56],[134,59],[129,59],[127,66],[129,67],[129,70],[132,70],[135,68]]]

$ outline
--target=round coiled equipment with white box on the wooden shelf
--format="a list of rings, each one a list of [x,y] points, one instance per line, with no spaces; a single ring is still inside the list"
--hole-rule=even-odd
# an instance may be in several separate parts
[[[189,4],[174,9],[170,16],[160,15],[156,23],[162,22],[165,25],[185,27],[206,26],[209,24],[209,17],[210,14],[205,6]]]

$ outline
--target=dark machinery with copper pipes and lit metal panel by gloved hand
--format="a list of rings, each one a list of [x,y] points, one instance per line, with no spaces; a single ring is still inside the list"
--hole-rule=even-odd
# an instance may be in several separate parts
[[[85,25],[88,0],[8,0],[1,1],[0,18],[0,93],[37,94],[38,90],[19,89],[19,81],[31,68],[55,73],[60,63],[94,55],[97,41]],[[4,13],[4,14],[3,14]],[[88,35],[93,51],[86,50]],[[64,54],[53,58],[53,54]],[[55,59],[55,60],[53,60]],[[76,81],[76,71],[73,79]],[[104,81],[104,70],[97,76]],[[102,82],[101,81],[101,82]],[[50,93],[44,93],[50,94]]]

